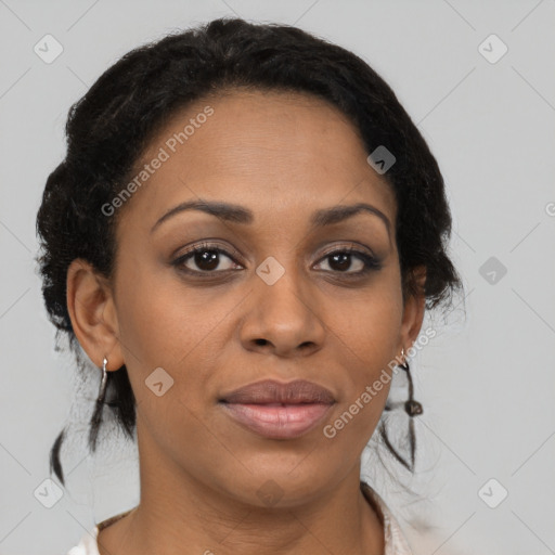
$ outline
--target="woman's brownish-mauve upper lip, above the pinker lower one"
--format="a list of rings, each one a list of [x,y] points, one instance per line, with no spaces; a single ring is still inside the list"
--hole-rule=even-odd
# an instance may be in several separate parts
[[[275,379],[255,382],[245,387],[225,393],[220,401],[241,404],[263,403],[324,403],[332,404],[335,398],[332,391],[306,379],[296,379],[287,384]]]

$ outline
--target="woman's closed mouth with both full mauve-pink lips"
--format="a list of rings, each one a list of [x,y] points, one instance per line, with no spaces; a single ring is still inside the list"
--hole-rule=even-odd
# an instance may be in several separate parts
[[[219,399],[219,405],[234,422],[269,439],[308,434],[335,402],[328,389],[306,380],[257,382]]]

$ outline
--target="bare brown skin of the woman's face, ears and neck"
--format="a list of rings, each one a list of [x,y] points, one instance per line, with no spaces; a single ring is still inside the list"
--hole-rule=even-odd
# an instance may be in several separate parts
[[[119,208],[113,281],[83,260],[67,273],[80,345],[99,367],[104,356],[109,371],[126,364],[137,399],[141,503],[100,532],[100,553],[183,553],[186,545],[188,553],[248,555],[263,545],[267,555],[383,554],[382,525],[359,480],[389,384],[333,439],[322,427],[409,349],[422,326],[424,297],[403,305],[401,295],[393,193],[341,113],[284,92],[235,90],[188,106],[138,168],[207,105],[214,115]],[[254,222],[191,210],[151,233],[166,211],[198,197],[242,205]],[[309,223],[317,209],[359,202],[378,208],[389,232],[366,212]],[[171,264],[203,240],[231,258],[219,255],[216,269],[196,278]],[[352,256],[350,267],[340,266],[325,255],[352,242],[382,267],[349,281],[363,261]],[[269,256],[285,270],[273,285],[256,273]],[[206,266],[193,257],[181,268]],[[156,367],[173,378],[160,397],[145,385]],[[217,401],[262,378],[315,382],[336,403],[300,438],[257,436]],[[272,506],[257,494],[268,480],[282,494]]]

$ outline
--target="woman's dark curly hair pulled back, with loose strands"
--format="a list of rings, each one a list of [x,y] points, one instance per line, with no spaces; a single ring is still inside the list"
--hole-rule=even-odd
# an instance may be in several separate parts
[[[386,145],[397,158],[384,178],[397,199],[403,298],[424,294],[426,308],[434,309],[450,305],[452,294],[462,288],[446,250],[451,215],[443,179],[391,88],[353,53],[296,27],[220,18],[128,52],[68,112],[67,154],[50,173],[37,214],[42,249],[37,261],[56,344],[60,334],[66,334],[79,364],[82,356],[66,305],[69,263],[81,258],[113,278],[121,210],[107,218],[102,206],[121,191],[152,138],[178,109],[234,88],[324,99],[352,121],[369,153]],[[412,272],[421,264],[427,270],[424,291]],[[108,372],[107,392],[106,404],[132,437],[135,403],[125,365]],[[92,451],[102,409],[98,403],[90,424]],[[50,470],[62,483],[64,433],[50,452]]]

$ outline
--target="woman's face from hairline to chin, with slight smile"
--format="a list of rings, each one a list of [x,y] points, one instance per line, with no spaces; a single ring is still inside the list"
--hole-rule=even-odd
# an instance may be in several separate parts
[[[118,339],[111,370],[127,365],[137,399],[142,465],[255,505],[268,480],[293,506],[359,472],[384,370],[422,315],[403,306],[396,199],[366,156],[324,101],[243,91],[188,106],[143,153],[137,175],[149,164],[149,177],[118,208],[104,313]],[[233,210],[169,214],[201,199]],[[367,209],[327,212],[359,203]],[[262,379],[306,379],[334,402],[307,431],[271,437],[220,402]]]

